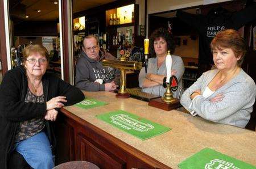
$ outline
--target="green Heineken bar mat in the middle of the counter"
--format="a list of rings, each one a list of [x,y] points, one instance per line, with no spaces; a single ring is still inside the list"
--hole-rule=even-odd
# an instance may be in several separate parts
[[[122,110],[96,115],[96,117],[141,140],[146,140],[171,130],[171,128]]]

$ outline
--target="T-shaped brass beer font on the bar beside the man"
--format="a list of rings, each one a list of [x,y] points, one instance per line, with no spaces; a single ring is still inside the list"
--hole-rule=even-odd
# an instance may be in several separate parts
[[[120,88],[118,94],[115,95],[117,98],[129,98],[130,94],[126,92],[126,70],[140,70],[142,68],[142,62],[128,61],[130,57],[130,52],[120,51],[122,56],[120,61],[114,60],[102,60],[103,66],[115,67],[121,70],[120,77]]]

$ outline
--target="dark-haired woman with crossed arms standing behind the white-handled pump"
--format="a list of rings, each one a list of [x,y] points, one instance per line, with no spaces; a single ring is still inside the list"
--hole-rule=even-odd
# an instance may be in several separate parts
[[[171,54],[175,50],[174,37],[164,29],[156,29],[150,37],[150,58],[148,60],[147,73],[141,69],[139,73],[139,87],[143,92],[163,96],[166,89],[163,87],[163,79],[166,77],[166,56],[167,51]],[[184,64],[179,56],[172,55],[172,75],[178,80],[178,89],[174,92],[174,98],[178,98],[179,91],[182,88],[182,77],[184,73]]]

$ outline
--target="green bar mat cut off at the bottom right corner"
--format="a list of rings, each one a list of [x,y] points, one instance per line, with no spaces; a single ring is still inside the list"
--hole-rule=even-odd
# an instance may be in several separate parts
[[[221,154],[209,148],[205,148],[199,153],[192,155],[191,157],[185,159],[179,165],[179,168],[185,169],[251,169],[256,168],[251,164],[242,162],[241,160],[229,157],[228,155]]]

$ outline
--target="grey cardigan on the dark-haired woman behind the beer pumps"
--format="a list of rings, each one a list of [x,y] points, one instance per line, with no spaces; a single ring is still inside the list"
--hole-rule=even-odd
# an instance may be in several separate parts
[[[148,60],[147,73],[166,75],[165,61],[159,67],[159,69],[157,68],[157,66],[158,66],[158,63],[157,63],[156,57],[150,58]],[[182,77],[183,77],[183,73],[184,73],[184,64],[183,64],[181,57],[172,55],[172,69],[177,71],[175,76],[178,79],[178,89],[177,89],[177,91],[174,92],[174,98],[177,98],[179,95],[180,89],[183,87]],[[166,92],[166,88],[163,87],[163,84],[154,86],[154,87],[144,87],[143,88],[142,84],[145,79],[146,79],[146,73],[145,73],[145,67],[143,67],[143,69],[141,69],[141,71],[139,73],[139,87],[142,87],[143,92],[147,92],[149,94],[154,94],[154,95],[158,95],[158,96],[163,96],[164,92]]]

